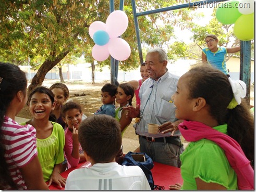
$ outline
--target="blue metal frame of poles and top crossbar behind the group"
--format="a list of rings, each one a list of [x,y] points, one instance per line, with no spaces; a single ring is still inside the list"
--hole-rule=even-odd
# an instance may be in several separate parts
[[[197,7],[199,5],[206,5],[210,3],[218,3],[218,2],[225,2],[228,0],[206,0],[206,1],[199,1],[199,2],[190,2],[186,4],[174,5],[159,9],[153,9],[144,12],[136,12],[136,0],[131,0],[132,5],[132,12],[133,18],[135,22],[135,30],[137,36],[137,43],[138,43],[138,50],[139,50],[139,57],[140,63],[143,63],[143,56],[142,56],[142,49],[141,49],[141,40],[140,40],[140,32],[139,32],[139,23],[138,17],[156,14],[159,12],[181,9],[181,8],[188,8],[188,7]],[[124,0],[120,0],[119,9],[123,10],[124,8]],[[114,11],[114,0],[110,0],[110,10],[111,12]],[[241,50],[240,50],[240,80],[244,81],[247,85],[247,96],[248,102],[250,102],[250,84],[251,84],[251,41],[240,41]],[[111,83],[117,83],[117,73],[118,73],[118,60],[115,60],[111,57]]]

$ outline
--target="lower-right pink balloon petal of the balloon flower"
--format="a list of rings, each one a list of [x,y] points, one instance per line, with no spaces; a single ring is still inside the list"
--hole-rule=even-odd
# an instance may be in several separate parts
[[[131,54],[130,45],[119,37],[110,39],[107,45],[109,54],[116,60],[124,61]]]

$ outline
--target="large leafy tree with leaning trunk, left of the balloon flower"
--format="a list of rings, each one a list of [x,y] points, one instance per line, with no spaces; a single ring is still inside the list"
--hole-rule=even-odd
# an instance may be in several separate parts
[[[2,1],[0,53],[14,63],[41,63],[29,91],[67,54],[81,55],[91,20],[102,17],[104,4],[91,1]],[[106,6],[106,5],[105,5]],[[95,11],[96,10],[96,11]],[[104,15],[103,15],[104,17]]]

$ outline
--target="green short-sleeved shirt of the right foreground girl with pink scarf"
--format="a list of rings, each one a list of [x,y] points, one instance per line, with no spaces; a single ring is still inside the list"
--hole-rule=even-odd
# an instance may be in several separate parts
[[[213,127],[227,134],[227,125]],[[217,183],[228,190],[237,190],[237,176],[225,156],[224,150],[215,142],[201,139],[191,142],[180,155],[183,190],[197,190],[195,178],[206,183]]]

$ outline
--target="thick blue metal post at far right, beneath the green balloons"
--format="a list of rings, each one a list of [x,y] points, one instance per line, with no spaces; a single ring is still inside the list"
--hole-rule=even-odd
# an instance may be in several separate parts
[[[251,41],[240,41],[240,77],[246,83],[246,99],[250,104],[251,94]]]

